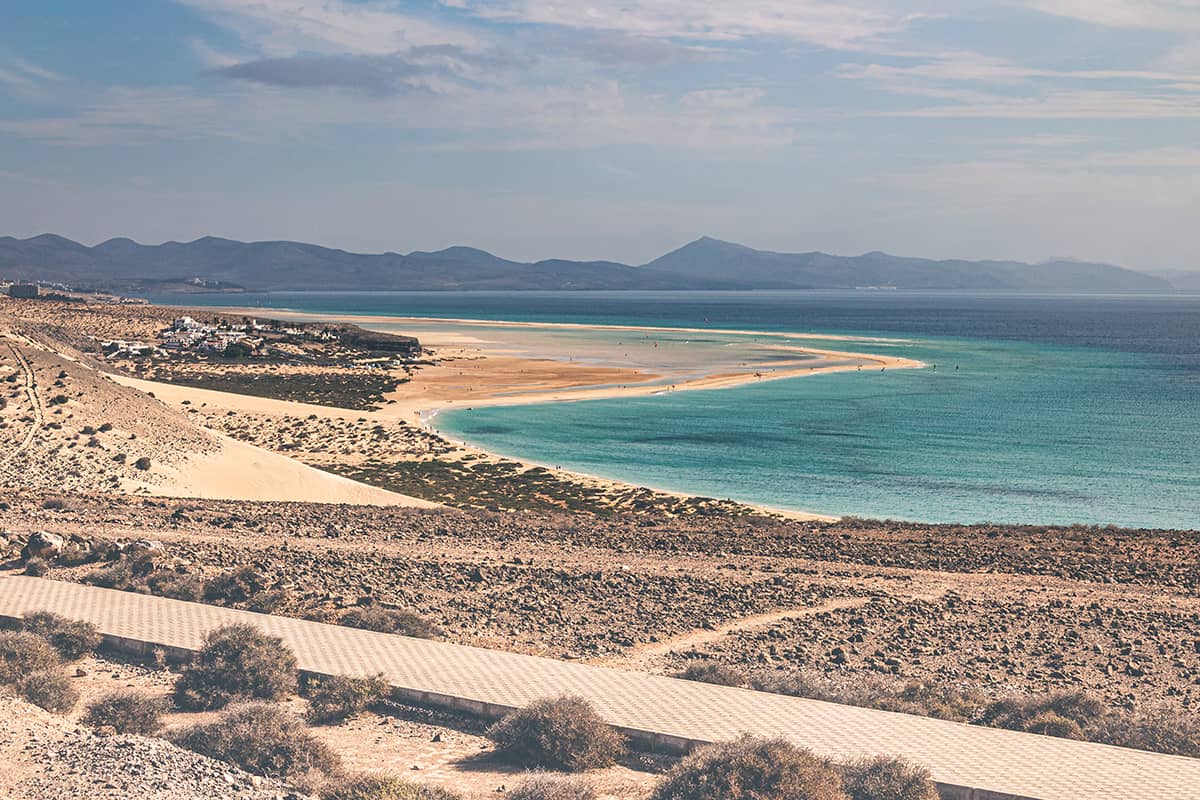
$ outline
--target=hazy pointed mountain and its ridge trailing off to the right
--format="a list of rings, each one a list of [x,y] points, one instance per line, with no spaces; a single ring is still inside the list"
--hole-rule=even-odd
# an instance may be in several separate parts
[[[1056,260],[935,261],[887,253],[772,253],[700,239],[646,265],[690,277],[737,276],[764,289],[962,289],[994,291],[1170,291],[1160,278],[1108,264]]]

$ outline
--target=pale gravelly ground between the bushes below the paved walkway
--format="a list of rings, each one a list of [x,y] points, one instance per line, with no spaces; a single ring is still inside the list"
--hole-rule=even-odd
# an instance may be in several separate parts
[[[306,792],[248,775],[156,736],[104,735],[80,723],[90,702],[116,690],[167,696],[175,673],[113,655],[89,656],[73,685],[80,702],[48,714],[0,690],[0,796],[12,800],[304,800]],[[302,716],[305,700],[284,700]],[[164,732],[206,722],[214,712],[174,711]],[[445,786],[468,799],[514,788],[523,772],[491,757],[486,723],[440,711],[386,704],[337,724],[311,728],[347,774],[364,771]],[[668,759],[631,754],[587,780],[604,800],[641,800]]]

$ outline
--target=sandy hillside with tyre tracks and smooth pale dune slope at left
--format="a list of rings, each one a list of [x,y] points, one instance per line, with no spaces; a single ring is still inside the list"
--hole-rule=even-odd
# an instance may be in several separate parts
[[[0,320],[0,487],[428,506],[194,425]]]

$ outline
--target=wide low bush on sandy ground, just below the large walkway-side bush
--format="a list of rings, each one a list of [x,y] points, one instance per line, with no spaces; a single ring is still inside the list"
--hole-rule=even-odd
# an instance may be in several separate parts
[[[168,738],[180,747],[266,777],[340,769],[337,756],[299,717],[270,703],[235,705],[215,722],[190,726]]]

